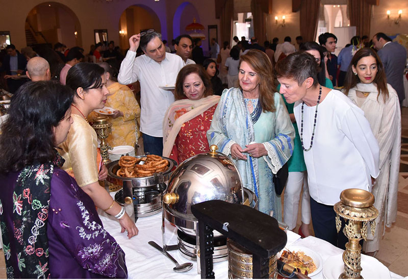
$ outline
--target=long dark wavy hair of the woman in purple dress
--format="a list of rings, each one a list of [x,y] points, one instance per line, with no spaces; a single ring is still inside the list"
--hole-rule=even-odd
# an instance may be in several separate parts
[[[29,82],[18,89],[1,126],[1,173],[54,159],[53,127],[64,119],[72,98],[70,88],[53,81]]]

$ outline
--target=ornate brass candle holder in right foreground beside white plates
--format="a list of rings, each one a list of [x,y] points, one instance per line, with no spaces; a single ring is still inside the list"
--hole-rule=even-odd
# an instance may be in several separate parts
[[[372,193],[360,189],[347,189],[341,192],[340,201],[334,206],[337,232],[340,231],[340,217],[342,217],[346,221],[343,233],[348,238],[346,250],[343,253],[344,271],[340,274],[340,279],[363,278],[359,242],[362,239],[367,240],[367,223],[370,223],[371,233],[374,235],[378,210],[373,204],[374,195]]]

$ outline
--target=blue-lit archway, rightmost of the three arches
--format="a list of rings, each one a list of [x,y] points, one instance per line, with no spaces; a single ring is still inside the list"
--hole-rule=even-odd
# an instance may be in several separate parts
[[[197,9],[190,2],[184,2],[177,7],[173,16],[173,38],[186,34],[186,26],[193,22],[194,18],[196,22],[200,22]]]

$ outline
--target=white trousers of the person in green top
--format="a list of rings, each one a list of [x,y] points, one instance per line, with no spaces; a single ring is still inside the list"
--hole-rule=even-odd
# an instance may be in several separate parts
[[[302,195],[302,222],[310,224],[310,194],[308,186],[308,173],[303,172],[289,172],[288,182],[285,187],[284,200],[284,222],[289,226],[289,230],[293,230],[297,223],[297,212],[299,210],[300,191],[303,185]]]

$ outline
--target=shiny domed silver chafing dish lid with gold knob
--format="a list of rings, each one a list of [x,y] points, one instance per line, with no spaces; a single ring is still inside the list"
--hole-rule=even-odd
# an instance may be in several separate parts
[[[180,218],[195,220],[191,206],[208,200],[243,202],[241,176],[235,164],[212,145],[207,154],[199,154],[181,163],[170,176],[168,194],[163,201]]]

